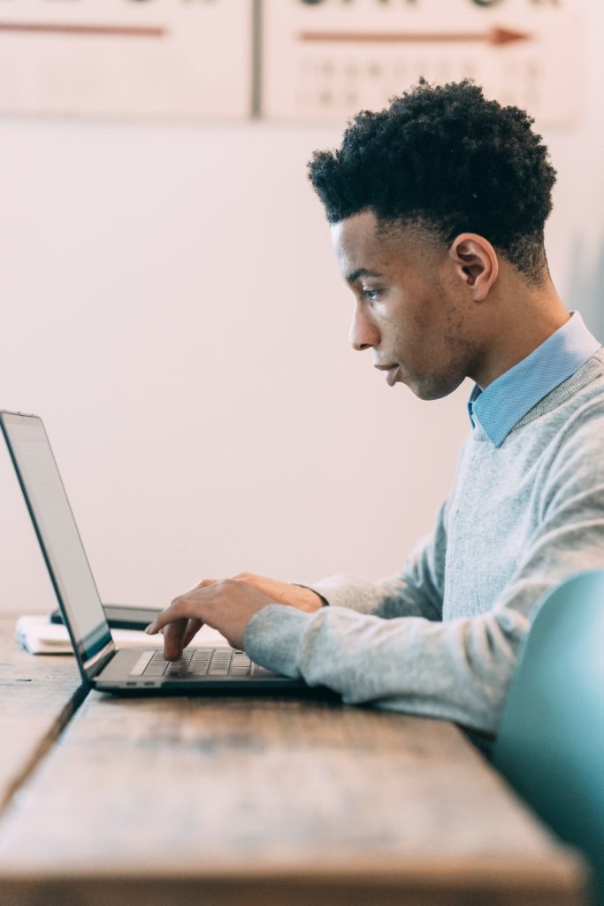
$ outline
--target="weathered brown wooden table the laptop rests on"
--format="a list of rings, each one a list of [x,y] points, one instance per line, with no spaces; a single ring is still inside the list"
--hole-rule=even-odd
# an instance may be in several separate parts
[[[69,718],[72,660],[5,631],[0,661],[3,906],[585,902],[578,857],[452,724],[96,692]]]

